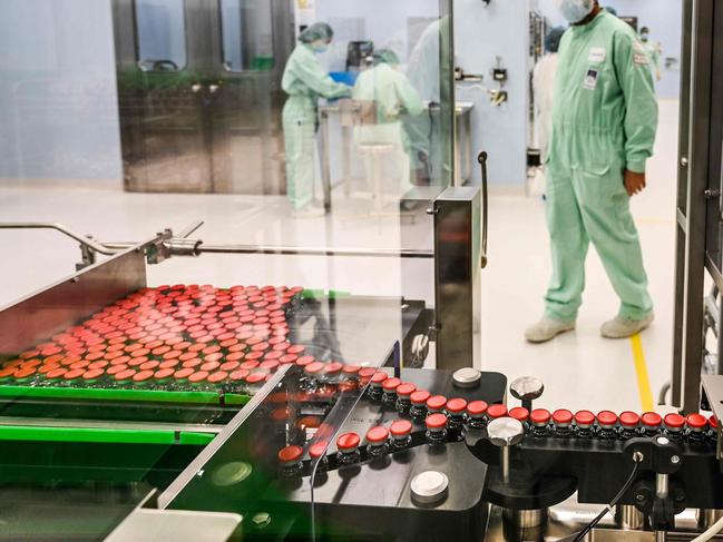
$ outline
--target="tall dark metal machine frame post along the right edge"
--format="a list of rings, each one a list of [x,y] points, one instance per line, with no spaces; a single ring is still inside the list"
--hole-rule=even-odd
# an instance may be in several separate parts
[[[706,275],[723,289],[723,111],[717,107],[723,91],[723,51],[717,47],[723,7],[715,0],[684,0],[683,36],[673,404],[692,411],[706,354]],[[720,318],[714,325],[721,325]],[[717,336],[723,336],[720,328]],[[720,373],[723,366],[720,361],[717,365]]]

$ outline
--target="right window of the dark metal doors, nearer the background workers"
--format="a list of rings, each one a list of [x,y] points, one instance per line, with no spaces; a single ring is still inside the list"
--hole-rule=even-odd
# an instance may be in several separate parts
[[[274,66],[272,3],[267,0],[219,0],[224,68],[268,70]]]

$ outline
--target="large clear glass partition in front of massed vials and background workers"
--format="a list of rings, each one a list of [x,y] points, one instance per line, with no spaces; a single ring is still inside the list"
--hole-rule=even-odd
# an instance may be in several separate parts
[[[260,398],[243,437],[273,479],[279,450],[306,454],[325,417],[332,438],[378,367],[411,363],[433,321],[428,209],[453,176],[446,2],[18,0],[0,20],[35,38],[0,63],[19,536],[67,513],[61,486],[108,501],[70,533],[101,540],[270,381],[286,406]]]

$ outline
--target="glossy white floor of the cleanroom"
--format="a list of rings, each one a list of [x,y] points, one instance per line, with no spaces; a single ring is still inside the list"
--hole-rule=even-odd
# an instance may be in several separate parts
[[[645,248],[657,322],[643,335],[654,395],[671,372],[677,104],[662,104],[649,189],[634,203]],[[294,220],[283,198],[124,194],[114,185],[18,183],[0,185],[0,220],[59,221],[104,240],[141,240],[165,227],[182,229],[206,220],[207,242],[393,248],[400,246],[398,218],[370,216],[369,203],[335,196],[331,219]],[[569,408],[641,410],[639,378],[629,341],[608,342],[599,326],[617,299],[594,252],[578,329],[543,346],[522,339],[524,328],[541,314],[549,273],[544,203],[495,196],[490,210],[490,266],[482,285],[482,367],[511,378],[537,375],[547,386],[540,405]],[[420,213],[403,245],[428,248],[429,223]],[[72,272],[76,244],[53,233],[0,231],[0,306]],[[406,277],[413,277],[402,282]],[[361,295],[431,298],[432,269],[384,258],[226,257],[172,260],[149,272],[152,284],[166,282],[302,284]],[[643,374],[642,381],[646,381]],[[648,396],[649,394],[643,394]]]

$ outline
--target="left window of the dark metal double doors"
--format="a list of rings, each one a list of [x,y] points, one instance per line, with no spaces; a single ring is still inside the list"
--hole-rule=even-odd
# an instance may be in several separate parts
[[[138,66],[179,71],[186,66],[184,0],[136,0]]]

